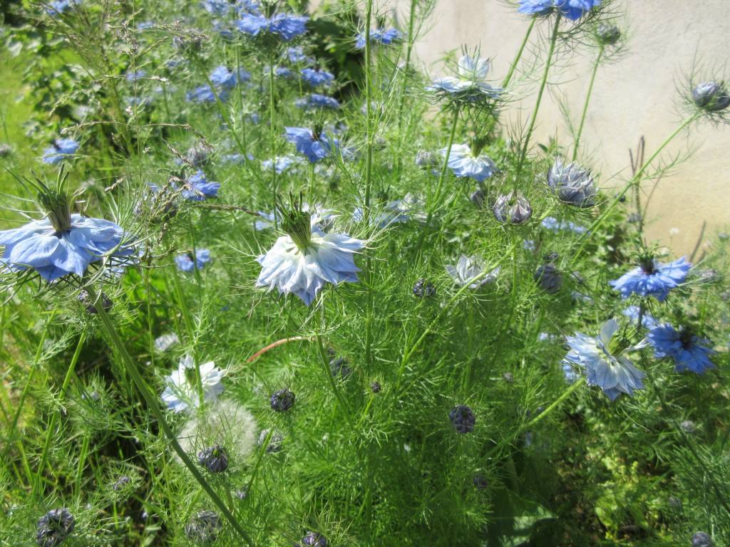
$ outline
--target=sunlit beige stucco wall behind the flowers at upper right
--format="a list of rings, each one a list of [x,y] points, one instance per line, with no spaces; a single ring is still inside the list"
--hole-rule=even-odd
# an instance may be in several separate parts
[[[696,55],[716,66],[729,61],[730,0],[698,3],[702,9],[686,0],[618,2],[626,12],[629,50],[621,61],[599,70],[583,136],[593,168],[602,173],[602,186],[621,184],[612,175],[628,172],[628,149],[636,146],[640,136],[645,136],[650,155],[674,131],[681,120],[675,85],[682,80],[682,71],[691,69]],[[410,1],[390,4],[404,11]],[[385,2],[380,7],[388,9]],[[526,18],[502,0],[438,0],[429,31],[418,40],[416,52],[434,75],[440,75],[439,59],[445,52],[462,45],[479,46],[483,56],[493,58],[493,74],[499,82],[527,26]],[[547,34],[547,29],[542,30]],[[583,50],[562,57],[561,64],[569,66],[555,74],[576,116],[588,88],[592,55]],[[536,88],[526,88],[524,100],[513,105],[513,121],[526,120]],[[520,104],[525,108],[520,110]],[[558,101],[550,96],[539,112],[534,141],[545,142],[553,135],[566,146],[571,144]],[[689,140],[669,147],[668,155],[687,144],[699,150],[661,181],[648,212],[648,236],[678,253],[691,251],[703,220],[710,233],[730,224],[730,129],[702,125],[690,133]]]

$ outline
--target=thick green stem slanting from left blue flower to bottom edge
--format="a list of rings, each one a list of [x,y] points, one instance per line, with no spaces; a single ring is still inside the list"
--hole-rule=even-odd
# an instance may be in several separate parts
[[[96,295],[93,288],[86,287],[86,290],[88,291],[91,300],[96,301]],[[137,364],[134,362],[131,355],[127,351],[127,348],[124,345],[124,342],[122,341],[122,338],[120,337],[115,326],[113,325],[112,319],[110,319],[109,314],[107,314],[102,306],[99,306],[98,311],[99,319],[101,319],[101,325],[104,327],[104,330],[109,337],[112,349],[117,352],[118,357],[120,357],[120,359],[123,361],[127,373],[129,374],[129,376],[131,376],[131,379],[132,381],[134,381],[135,386],[137,386],[137,389],[142,395],[142,398],[145,399],[147,408],[150,408],[155,416],[155,419],[157,419],[161,430],[164,432],[164,435],[167,437],[169,443],[172,445],[172,449],[183,462],[185,467],[190,470],[195,480],[198,481],[198,484],[200,484],[201,488],[206,492],[206,494],[208,494],[210,500],[218,507],[220,512],[223,513],[223,516],[225,516],[226,519],[231,523],[231,526],[234,528],[237,534],[245,541],[245,543],[253,546],[253,540],[251,540],[245,529],[241,527],[241,525],[236,520],[236,517],[234,517],[233,513],[231,513],[231,511],[226,507],[226,504],[223,503],[223,500],[220,499],[215,490],[212,489],[212,486],[208,484],[204,476],[202,476],[198,468],[196,468],[193,460],[190,459],[188,454],[186,454],[183,450],[183,447],[180,446],[180,443],[177,442],[177,436],[172,431],[171,427],[167,423],[167,420],[165,419],[164,413],[160,409],[158,397],[152,392],[150,387],[147,385],[145,379],[142,378],[142,374],[139,373]]]

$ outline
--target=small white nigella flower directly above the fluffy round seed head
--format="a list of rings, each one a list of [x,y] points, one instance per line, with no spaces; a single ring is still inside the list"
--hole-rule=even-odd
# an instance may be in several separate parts
[[[208,361],[200,365],[201,389],[197,386],[195,361],[191,355],[185,355],[173,371],[166,377],[166,387],[162,392],[162,400],[167,408],[174,412],[187,411],[200,406],[199,393],[202,392],[205,403],[215,403],[218,395],[223,393],[223,376],[226,373]]]

